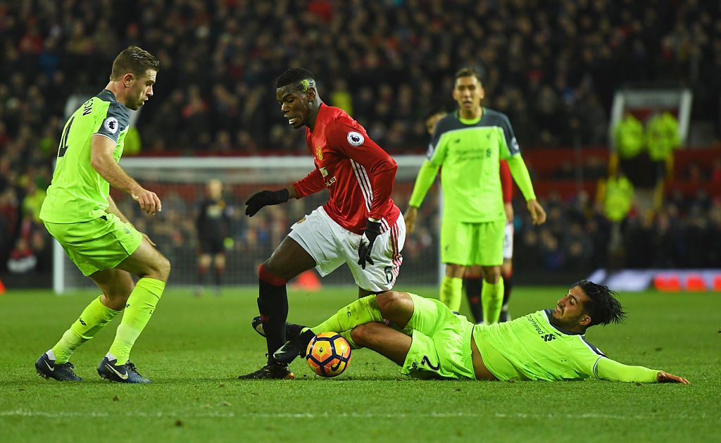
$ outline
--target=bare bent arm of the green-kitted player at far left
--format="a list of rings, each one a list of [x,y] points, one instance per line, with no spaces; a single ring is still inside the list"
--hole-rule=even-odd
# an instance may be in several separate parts
[[[143,212],[154,215],[161,211],[162,204],[156,193],[143,188],[123,170],[115,159],[112,152],[115,151],[115,141],[105,136],[92,136],[90,164],[93,169],[103,177],[107,183],[115,188],[128,193],[137,201]]]

